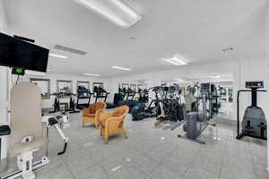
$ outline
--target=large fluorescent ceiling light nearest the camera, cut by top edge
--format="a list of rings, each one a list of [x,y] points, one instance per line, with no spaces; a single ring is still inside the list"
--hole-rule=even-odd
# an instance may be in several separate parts
[[[76,3],[90,9],[108,21],[127,29],[142,19],[139,13],[122,0],[74,0]]]

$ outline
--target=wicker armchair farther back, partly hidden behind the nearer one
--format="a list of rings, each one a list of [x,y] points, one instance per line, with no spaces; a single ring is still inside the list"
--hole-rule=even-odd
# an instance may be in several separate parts
[[[107,107],[107,104],[104,102],[98,102],[91,104],[90,107],[82,110],[82,127],[85,126],[86,123],[94,124],[95,128],[99,127],[98,118],[100,114]]]

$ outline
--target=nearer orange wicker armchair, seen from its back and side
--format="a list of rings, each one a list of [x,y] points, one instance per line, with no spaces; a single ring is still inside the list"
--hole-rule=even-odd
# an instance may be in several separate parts
[[[128,138],[126,130],[123,128],[129,107],[117,107],[115,111],[100,114],[100,134],[104,137],[104,142],[108,144],[108,137],[117,133],[122,133]]]

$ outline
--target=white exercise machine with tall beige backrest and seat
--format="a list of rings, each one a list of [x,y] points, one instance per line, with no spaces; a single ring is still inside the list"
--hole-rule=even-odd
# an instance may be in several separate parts
[[[18,171],[0,177],[13,179],[34,179],[33,171],[49,163],[48,157],[33,161],[33,153],[48,143],[43,137],[41,96],[39,87],[22,82],[11,90],[11,134],[9,136],[9,156],[17,157]]]

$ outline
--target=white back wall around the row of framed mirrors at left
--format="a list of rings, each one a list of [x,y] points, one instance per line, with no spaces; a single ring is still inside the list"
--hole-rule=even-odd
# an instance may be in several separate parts
[[[40,79],[49,79],[50,80],[50,93],[56,92],[56,81],[57,80],[64,80],[64,81],[72,81],[73,83],[73,93],[76,93],[76,85],[77,81],[89,81],[90,82],[90,90],[92,92],[92,84],[93,82],[103,82],[104,89],[108,92],[110,91],[110,86],[108,85],[108,80],[100,77],[83,77],[83,76],[74,76],[74,75],[65,75],[65,74],[57,74],[57,73],[48,73],[45,77],[39,76],[24,76],[23,81],[30,81],[30,78],[40,78]],[[112,96],[112,95],[110,95]],[[54,103],[54,96],[51,96],[48,99],[42,99],[42,108],[50,108],[53,107]],[[68,101],[69,99],[66,99]],[[91,102],[93,102],[94,98],[91,97]],[[86,99],[85,99],[86,101]],[[82,101],[83,103],[84,101]]]

